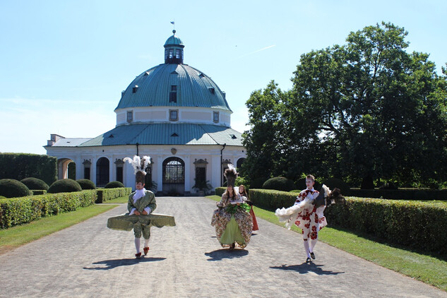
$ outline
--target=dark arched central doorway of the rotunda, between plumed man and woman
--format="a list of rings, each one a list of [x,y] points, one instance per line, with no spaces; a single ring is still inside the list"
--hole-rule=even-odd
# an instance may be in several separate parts
[[[185,162],[179,157],[169,157],[163,162],[163,193],[179,196],[184,191]]]

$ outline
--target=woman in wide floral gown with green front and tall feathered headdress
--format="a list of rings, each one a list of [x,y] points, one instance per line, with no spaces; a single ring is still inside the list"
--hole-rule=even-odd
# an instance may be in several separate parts
[[[237,245],[244,249],[250,242],[253,230],[250,206],[244,202],[246,198],[234,189],[237,172],[233,165],[228,165],[224,174],[227,178],[227,190],[217,203],[211,225],[215,227],[217,240],[222,247],[232,250]]]

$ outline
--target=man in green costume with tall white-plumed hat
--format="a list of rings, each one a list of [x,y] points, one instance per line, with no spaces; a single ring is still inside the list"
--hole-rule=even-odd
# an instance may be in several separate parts
[[[107,227],[114,230],[126,230],[133,229],[135,234],[135,249],[136,258],[141,258],[141,236],[144,238],[144,255],[149,252],[149,238],[150,227],[174,226],[174,217],[169,215],[153,214],[153,210],[157,208],[157,202],[155,201],[155,195],[152,191],[148,191],[145,186],[145,169],[150,163],[150,157],[145,156],[140,159],[139,156],[134,156],[133,160],[129,157],[124,158],[124,161],[129,161],[135,169],[136,178],[136,191],[133,191],[129,195],[129,201],[127,203],[127,210],[129,213],[125,215],[119,215],[116,217],[110,217],[107,220]]]

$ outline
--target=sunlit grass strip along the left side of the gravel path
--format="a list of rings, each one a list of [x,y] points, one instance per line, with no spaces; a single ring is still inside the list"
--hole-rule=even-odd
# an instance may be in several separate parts
[[[0,254],[16,249],[18,246],[40,239],[48,234],[65,229],[90,217],[104,213],[117,205],[90,205],[76,211],[61,213],[35,220],[25,225],[0,230]]]

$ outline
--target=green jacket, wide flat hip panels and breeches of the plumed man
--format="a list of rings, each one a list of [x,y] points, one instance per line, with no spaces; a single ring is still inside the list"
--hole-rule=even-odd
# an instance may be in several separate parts
[[[146,207],[150,207],[152,211],[157,208],[155,195],[152,191],[145,191],[145,196],[143,196],[143,198],[138,198],[135,203],[133,203],[134,194],[135,192],[129,195],[129,203],[127,203],[129,213],[133,208],[136,208],[140,213],[142,213]],[[131,231],[133,229],[136,238],[140,238],[143,234],[145,239],[149,239],[150,227],[173,227],[175,225],[174,216],[171,215],[154,214],[152,212],[148,215],[129,215],[129,213],[110,217],[109,220],[107,220],[107,227],[112,230],[124,231]]]

